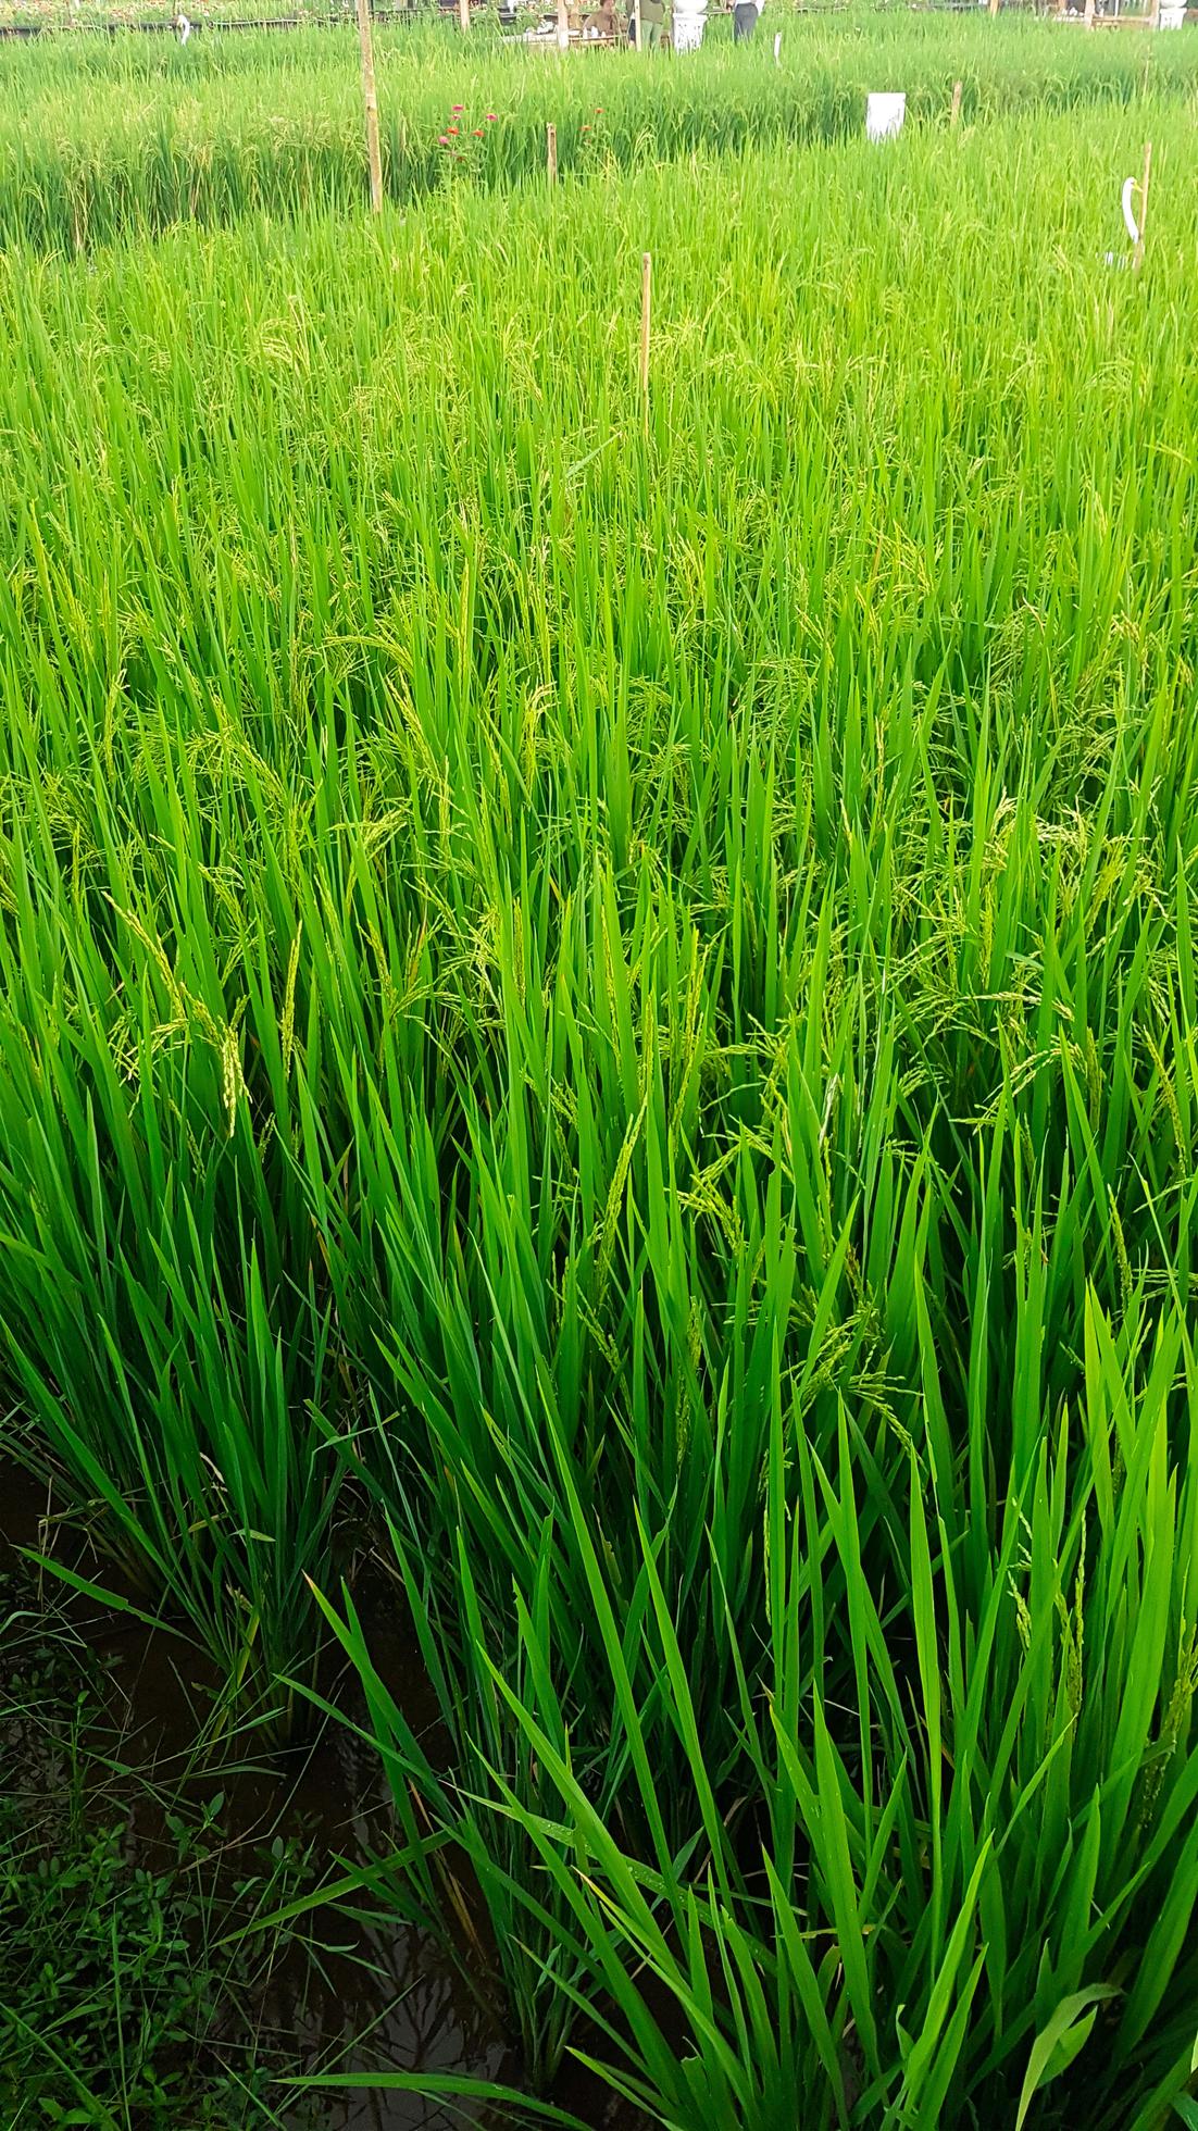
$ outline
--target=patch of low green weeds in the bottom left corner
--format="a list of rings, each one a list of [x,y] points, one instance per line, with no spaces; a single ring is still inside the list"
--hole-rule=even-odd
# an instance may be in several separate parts
[[[222,1794],[162,1811],[87,1647],[49,1615],[0,1605],[0,2122],[273,2122],[277,2059],[254,2029],[286,1935],[264,1943],[237,1920],[303,1886],[305,1852],[279,1841],[230,1884]]]

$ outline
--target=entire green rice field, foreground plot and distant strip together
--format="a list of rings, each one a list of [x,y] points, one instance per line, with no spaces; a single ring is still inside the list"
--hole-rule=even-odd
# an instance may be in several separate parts
[[[379,38],[379,217],[350,43],[19,55],[4,1445],[239,1722],[339,1649],[516,2120],[1164,2131],[1194,62],[784,40]]]

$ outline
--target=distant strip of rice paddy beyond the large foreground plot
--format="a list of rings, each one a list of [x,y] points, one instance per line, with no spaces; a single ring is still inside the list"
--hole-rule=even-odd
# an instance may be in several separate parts
[[[2,0],[0,0],[2,6]],[[840,143],[870,90],[906,87],[910,117],[949,126],[1021,111],[1140,107],[1194,117],[1185,36],[989,15],[782,17],[780,66],[763,36],[733,51],[712,11],[693,64],[637,81],[622,51],[522,51],[480,21],[375,34],[384,179],[411,205],[469,181],[505,194],[546,168],[556,126],[563,175],[608,177],[748,147]],[[463,107],[454,113],[454,107]],[[460,121],[460,160],[448,126]],[[475,132],[477,130],[477,132]],[[367,200],[354,34],[239,32],[0,43],[0,243],[92,251],[175,222],[230,226],[245,213],[356,211]]]

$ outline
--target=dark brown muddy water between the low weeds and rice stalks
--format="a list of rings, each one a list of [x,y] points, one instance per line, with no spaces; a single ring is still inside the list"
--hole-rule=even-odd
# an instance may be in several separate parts
[[[0,1466],[0,1571],[13,1571],[17,1549],[62,1556],[68,1541],[45,1526],[45,1492],[11,1464]],[[79,1573],[109,1585],[111,1571],[75,1558]],[[62,1588],[53,1592],[62,1607]],[[32,1585],[36,1592],[36,1583]],[[228,1758],[213,1767],[211,1752],[198,1756],[196,1741],[211,1709],[215,1675],[200,1652],[179,1637],[147,1628],[128,1615],[98,1609],[85,1598],[66,1598],[70,1632],[98,1660],[104,1720],[122,1741],[122,1758],[136,1767],[128,1803],[130,1858],[156,1869],[168,1856],[166,1811],[171,1803],[200,1807],[222,1792],[220,1826],[228,1828],[222,1873],[234,1886],[260,1869],[262,1852],[275,1841],[311,1845],[318,1871],[333,1871],[335,1858],[365,1862],[390,1845],[390,1803],[377,1758],[345,1726],[328,1722],[303,1750],[273,1758]],[[394,1669],[399,1652],[379,1662]],[[352,1681],[328,1681],[326,1692],[354,1715]],[[111,1803],[111,1796],[109,1796]],[[520,2084],[518,2065],[505,2052],[499,2027],[486,2010],[486,1992],[473,1990],[463,1973],[416,1931],[365,1926],[341,1914],[318,1912],[313,1933],[318,1958],[296,1939],[279,1961],[260,2005],[260,2029],[277,2039],[279,2059],[309,2073],[345,2071],[460,2071]],[[593,2120],[605,2122],[597,2097],[571,2095]],[[277,2105],[277,2103],[275,2103]],[[281,2108],[288,2131],[450,2131],[463,2118],[488,2122],[488,2112],[386,2088],[309,2097]]]

